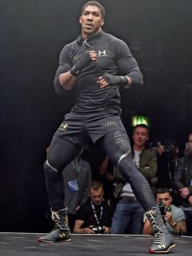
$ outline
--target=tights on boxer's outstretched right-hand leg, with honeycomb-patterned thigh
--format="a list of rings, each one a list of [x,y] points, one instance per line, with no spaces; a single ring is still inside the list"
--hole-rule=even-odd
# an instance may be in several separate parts
[[[117,166],[120,174],[130,183],[142,208],[147,211],[154,207],[156,205],[155,198],[150,185],[134,166],[128,135],[123,131],[112,131],[100,139],[100,144],[111,163]]]

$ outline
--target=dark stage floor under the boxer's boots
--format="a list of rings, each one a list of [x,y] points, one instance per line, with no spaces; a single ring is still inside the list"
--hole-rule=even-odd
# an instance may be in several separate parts
[[[133,235],[72,235],[72,241],[39,243],[36,233],[0,233],[0,256],[137,256],[147,255],[153,237]],[[191,255],[192,236],[175,237],[172,256]]]

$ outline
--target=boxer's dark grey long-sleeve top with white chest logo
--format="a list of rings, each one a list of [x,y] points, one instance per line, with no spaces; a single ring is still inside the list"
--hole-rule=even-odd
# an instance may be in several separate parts
[[[60,86],[59,75],[72,68],[86,50],[96,51],[98,57],[97,61],[93,61],[79,73],[74,87],[76,105],[72,108],[72,112],[79,114],[95,113],[95,111],[101,114],[120,113],[119,86],[107,86],[101,89],[97,84],[98,77],[104,73],[127,75],[131,78],[132,87],[134,87],[142,84],[142,73],[129,46],[109,33],[101,31],[86,42],[79,36],[76,41],[63,47],[59,58],[59,68],[55,74],[55,90],[59,94],[68,91]]]

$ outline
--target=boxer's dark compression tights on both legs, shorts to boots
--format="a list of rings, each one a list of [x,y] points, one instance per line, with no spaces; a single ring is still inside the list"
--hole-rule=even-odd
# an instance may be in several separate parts
[[[155,198],[151,192],[149,183],[136,169],[130,153],[129,138],[123,131],[111,131],[99,139],[99,143],[110,157],[114,166],[130,183],[134,195],[141,203],[144,210],[150,210],[155,206]],[[46,188],[53,210],[63,209],[64,192],[62,171],[80,152],[75,144],[68,139],[54,137],[50,144],[48,159],[44,165],[46,175]]]

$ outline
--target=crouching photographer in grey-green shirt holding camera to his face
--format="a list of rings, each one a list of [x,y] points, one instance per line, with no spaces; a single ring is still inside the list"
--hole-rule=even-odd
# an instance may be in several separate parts
[[[183,210],[172,205],[172,192],[168,188],[158,188],[156,191],[156,202],[168,232],[176,235],[185,235],[185,214]],[[143,234],[152,234],[151,223],[146,217],[144,218]]]

